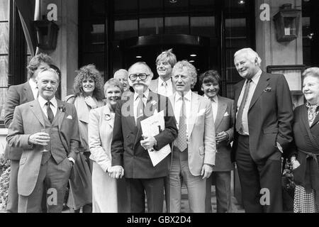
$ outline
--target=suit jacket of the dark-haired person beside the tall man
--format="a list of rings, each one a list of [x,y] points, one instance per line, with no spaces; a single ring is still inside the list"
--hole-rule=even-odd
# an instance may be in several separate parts
[[[233,110],[234,101],[232,99],[218,96],[218,109],[215,120],[216,134],[225,131],[228,133],[228,141],[224,140],[217,145],[216,161],[214,171],[230,171],[233,170],[233,164],[230,160],[231,146],[230,143],[234,138],[233,122],[235,113]]]

